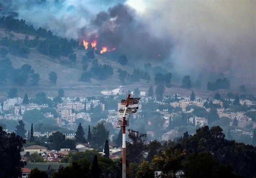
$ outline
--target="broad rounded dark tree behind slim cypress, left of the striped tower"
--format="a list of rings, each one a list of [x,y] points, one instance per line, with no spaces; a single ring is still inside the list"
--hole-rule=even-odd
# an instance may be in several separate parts
[[[108,135],[109,130],[106,129],[103,122],[92,128],[92,141],[98,146],[103,146],[105,140],[108,139]]]

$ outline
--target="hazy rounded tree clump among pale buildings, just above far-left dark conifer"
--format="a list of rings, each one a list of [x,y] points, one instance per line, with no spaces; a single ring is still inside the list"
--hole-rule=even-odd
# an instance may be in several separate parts
[[[23,120],[28,124],[31,124],[32,122],[38,122],[42,119],[44,119],[44,115],[37,109],[25,111],[23,114]]]

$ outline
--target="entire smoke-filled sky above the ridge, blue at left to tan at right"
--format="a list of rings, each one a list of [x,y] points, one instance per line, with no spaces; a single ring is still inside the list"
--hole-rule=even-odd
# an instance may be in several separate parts
[[[255,1],[1,1],[34,27],[116,48],[141,64],[207,82],[256,81]],[[118,4],[121,3],[121,4]],[[171,65],[170,65],[171,64]]]

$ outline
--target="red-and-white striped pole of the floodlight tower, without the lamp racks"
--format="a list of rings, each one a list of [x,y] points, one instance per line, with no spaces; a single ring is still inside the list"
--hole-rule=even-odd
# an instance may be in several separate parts
[[[125,113],[126,113],[126,110],[127,110],[127,107],[128,107],[128,100],[130,99],[130,94],[128,94],[128,97],[126,99],[126,104],[125,104],[125,108],[124,108],[124,115],[123,115],[123,171],[122,171],[122,175],[123,175],[123,178],[126,178],[126,150],[125,150]]]

